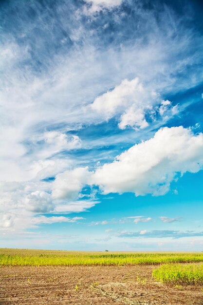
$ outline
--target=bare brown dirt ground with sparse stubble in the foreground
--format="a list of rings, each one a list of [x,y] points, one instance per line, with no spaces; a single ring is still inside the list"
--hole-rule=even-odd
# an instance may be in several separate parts
[[[166,286],[154,266],[0,267],[0,305],[203,305],[203,289]]]

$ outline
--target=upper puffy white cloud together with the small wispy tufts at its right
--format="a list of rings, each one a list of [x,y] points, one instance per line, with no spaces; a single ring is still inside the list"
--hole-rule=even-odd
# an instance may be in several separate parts
[[[154,121],[159,113],[166,121],[178,113],[178,105],[173,106],[169,100],[162,100],[150,85],[143,86],[135,77],[132,80],[124,79],[111,91],[97,96],[85,110],[93,111],[103,120],[118,116],[120,129],[130,127],[139,130],[149,126],[146,115]]]

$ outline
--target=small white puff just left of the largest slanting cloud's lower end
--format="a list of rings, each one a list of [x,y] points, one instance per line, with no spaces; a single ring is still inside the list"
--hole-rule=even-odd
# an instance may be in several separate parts
[[[91,173],[88,167],[79,167],[74,170],[59,173],[53,182],[52,196],[55,199],[75,199],[82,187],[89,184]]]

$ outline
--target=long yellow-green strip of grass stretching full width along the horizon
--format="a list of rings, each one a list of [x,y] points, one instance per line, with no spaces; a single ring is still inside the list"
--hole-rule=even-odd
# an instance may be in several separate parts
[[[126,266],[203,262],[203,253],[0,249],[1,266]]]

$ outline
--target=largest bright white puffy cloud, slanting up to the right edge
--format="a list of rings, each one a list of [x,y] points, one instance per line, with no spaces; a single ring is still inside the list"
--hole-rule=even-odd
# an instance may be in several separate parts
[[[169,191],[177,173],[202,169],[202,152],[202,133],[195,135],[182,126],[165,127],[98,168],[92,182],[105,194],[131,191],[136,195],[162,195]]]

